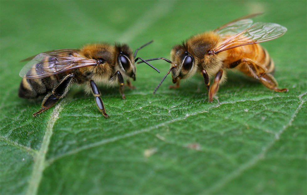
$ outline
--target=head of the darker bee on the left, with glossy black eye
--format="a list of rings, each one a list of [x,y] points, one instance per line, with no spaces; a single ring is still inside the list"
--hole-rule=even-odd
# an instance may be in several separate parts
[[[133,60],[132,50],[128,45],[117,45],[117,65],[123,74],[135,80],[136,67]]]

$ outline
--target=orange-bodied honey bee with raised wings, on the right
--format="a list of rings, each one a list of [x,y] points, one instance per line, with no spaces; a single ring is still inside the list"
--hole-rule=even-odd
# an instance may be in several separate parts
[[[171,50],[172,61],[165,58],[147,59],[164,59],[171,63],[171,68],[153,94],[170,72],[176,84],[170,88],[178,88],[180,80],[200,73],[209,92],[209,102],[212,102],[219,85],[226,81],[226,69],[234,68],[259,80],[271,90],[288,91],[277,87],[273,77],[274,62],[267,50],[258,44],[282,36],[287,28],[276,23],[253,23],[250,18],[259,14],[238,18],[214,31],[195,35],[183,44],[174,46]],[[210,87],[212,77],[213,85]]]

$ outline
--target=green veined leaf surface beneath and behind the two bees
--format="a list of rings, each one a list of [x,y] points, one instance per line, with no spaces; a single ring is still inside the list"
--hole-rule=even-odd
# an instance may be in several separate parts
[[[306,1],[1,1],[1,194],[306,194]],[[125,42],[142,58],[233,19],[266,12],[288,32],[263,43],[288,93],[228,72],[219,103],[201,75],[177,90],[169,69],[138,65],[135,90],[100,87],[109,119],[73,86],[33,118],[18,97],[24,63],[42,51]]]

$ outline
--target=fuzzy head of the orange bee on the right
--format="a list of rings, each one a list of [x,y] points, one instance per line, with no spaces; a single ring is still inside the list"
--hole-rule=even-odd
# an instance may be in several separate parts
[[[186,44],[174,46],[171,50],[171,59],[171,67],[174,67],[176,64],[171,71],[173,83],[176,83],[177,80],[190,77],[197,70],[195,58],[189,52],[189,48]]]

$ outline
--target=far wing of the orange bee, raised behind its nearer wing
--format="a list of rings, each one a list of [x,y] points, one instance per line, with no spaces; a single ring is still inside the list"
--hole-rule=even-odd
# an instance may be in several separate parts
[[[249,18],[253,18],[261,14],[263,13],[254,13],[235,19],[229,23],[224,24],[223,26],[220,26],[219,28],[216,28],[213,32],[216,32],[220,35],[230,35],[230,34],[240,33],[252,25],[252,19]]]

